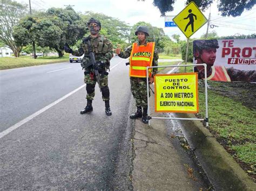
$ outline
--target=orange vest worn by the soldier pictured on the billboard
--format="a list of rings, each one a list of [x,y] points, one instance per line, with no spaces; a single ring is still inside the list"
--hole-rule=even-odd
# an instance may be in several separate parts
[[[212,74],[207,77],[207,80],[231,82],[224,66],[212,66]]]

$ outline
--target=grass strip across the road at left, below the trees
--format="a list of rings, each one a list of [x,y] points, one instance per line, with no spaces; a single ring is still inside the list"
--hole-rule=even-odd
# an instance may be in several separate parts
[[[37,59],[33,59],[30,56],[20,56],[18,58],[3,57],[0,58],[0,69],[46,65],[49,63],[58,63],[66,61],[69,61],[69,54],[64,54],[62,58],[58,58],[58,56],[43,56],[38,57]]]

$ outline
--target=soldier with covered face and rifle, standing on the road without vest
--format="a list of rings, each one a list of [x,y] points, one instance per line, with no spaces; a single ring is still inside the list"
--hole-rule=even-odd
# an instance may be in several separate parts
[[[102,90],[102,98],[105,102],[105,113],[107,116],[112,115],[110,110],[110,91],[108,86],[107,75],[109,73],[106,72],[107,68],[110,66],[110,59],[113,57],[113,46],[110,41],[99,34],[102,25],[95,18],[90,18],[87,22],[87,28],[90,31],[90,35],[88,37],[83,38],[82,43],[77,51],[73,51],[69,46],[65,46],[65,52],[71,53],[75,56],[82,56],[84,54],[84,58],[81,62],[81,66],[84,69],[84,83],[86,83],[86,99],[87,104],[86,107],[80,111],[80,114],[86,114],[93,110],[92,108],[92,100],[95,96],[95,85],[96,85],[96,76],[94,74],[94,69],[97,69],[100,74],[99,86]],[[92,49],[92,52],[95,55],[95,60],[97,65],[93,68],[91,63],[91,58],[89,55],[89,43]]]

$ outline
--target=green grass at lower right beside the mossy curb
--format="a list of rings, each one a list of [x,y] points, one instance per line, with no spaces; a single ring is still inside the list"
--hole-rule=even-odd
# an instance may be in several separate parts
[[[205,93],[204,87],[201,86],[199,86],[199,116],[205,118]],[[210,131],[219,142],[234,151],[231,152],[234,158],[251,166],[253,173],[256,170],[255,116],[255,110],[208,89]]]

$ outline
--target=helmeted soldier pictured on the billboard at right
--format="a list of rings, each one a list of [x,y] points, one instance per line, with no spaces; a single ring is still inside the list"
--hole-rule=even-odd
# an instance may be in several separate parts
[[[207,80],[214,81],[256,81],[255,70],[239,70],[225,68],[224,66],[214,66],[217,48],[219,48],[218,40],[194,40],[193,52],[194,60],[197,63],[206,63]],[[199,79],[204,79],[204,66],[194,67],[194,72],[198,72]]]

